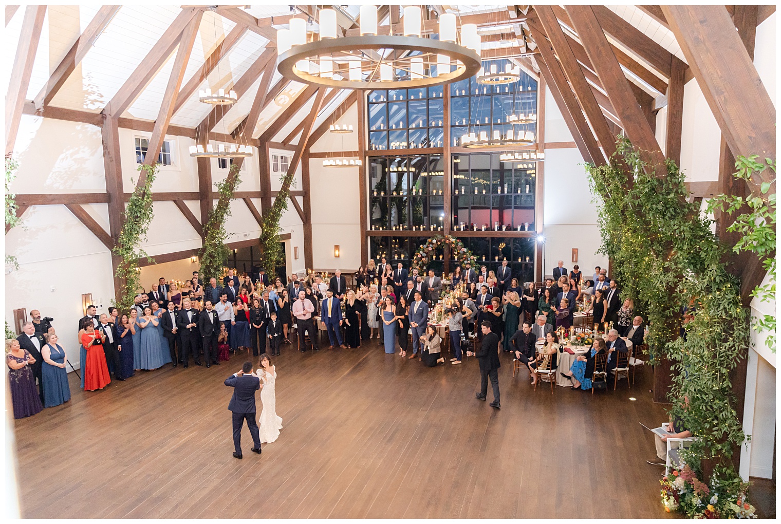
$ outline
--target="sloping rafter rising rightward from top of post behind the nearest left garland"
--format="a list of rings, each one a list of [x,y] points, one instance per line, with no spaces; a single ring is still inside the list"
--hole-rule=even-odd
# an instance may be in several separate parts
[[[109,103],[103,108],[103,114],[120,116],[125,109],[138,98],[144,87],[155,77],[162,65],[169,58],[173,50],[177,47],[182,36],[182,31],[193,19],[196,13],[203,13],[202,8],[187,7],[173,20],[168,29],[163,32],[157,43],[147,53],[141,63],[138,64],[130,77],[127,78],[119,91],[109,100]]]

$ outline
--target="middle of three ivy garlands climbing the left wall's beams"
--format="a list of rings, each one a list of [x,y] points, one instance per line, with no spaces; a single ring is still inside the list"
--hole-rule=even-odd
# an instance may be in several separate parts
[[[209,212],[209,218],[203,226],[203,247],[198,255],[201,259],[201,275],[205,282],[212,276],[219,280],[230,255],[230,250],[225,245],[228,240],[225,219],[230,216],[230,199],[234,197],[236,187],[241,183],[239,170],[237,164],[231,164],[226,179],[215,184],[219,200],[216,207]]]

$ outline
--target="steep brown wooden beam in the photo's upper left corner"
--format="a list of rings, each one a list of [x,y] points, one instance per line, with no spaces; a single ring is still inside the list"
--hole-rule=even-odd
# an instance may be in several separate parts
[[[41,40],[45,16],[45,5],[28,5],[24,9],[19,45],[16,47],[8,93],[5,95],[5,156],[13,154],[13,146],[16,144],[16,134],[19,133],[22,108],[27,87],[30,86],[30,75],[33,73],[35,53],[38,49],[38,41]]]

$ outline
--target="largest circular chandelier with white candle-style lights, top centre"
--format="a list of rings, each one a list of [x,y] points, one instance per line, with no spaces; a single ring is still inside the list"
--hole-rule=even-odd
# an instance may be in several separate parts
[[[439,17],[439,40],[424,37],[419,6],[404,8],[403,34],[378,34],[376,5],[362,5],[360,36],[337,37],[337,16],[322,9],[319,34],[308,37],[306,20],[277,30],[279,72],[290,80],[341,89],[405,89],[451,84],[480,70],[480,35],[455,15]],[[391,31],[393,25],[391,24]]]

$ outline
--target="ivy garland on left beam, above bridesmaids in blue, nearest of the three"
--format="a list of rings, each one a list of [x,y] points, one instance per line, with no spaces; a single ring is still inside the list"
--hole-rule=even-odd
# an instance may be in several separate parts
[[[133,194],[130,195],[125,209],[122,230],[119,231],[116,246],[112,249],[112,253],[122,259],[116,268],[116,273],[114,273],[117,279],[124,282],[124,287],[118,291],[117,298],[113,301],[113,305],[120,312],[130,312],[134,297],[141,292],[138,261],[141,258],[146,258],[149,262],[154,262],[141,248],[141,242],[146,241],[149,224],[152,223],[154,216],[152,212],[154,208],[152,183],[155,181],[158,169],[159,164],[157,163],[152,166],[145,164],[138,166],[139,172],[141,170],[146,172],[146,180],[144,180],[144,185],[136,187]]]

